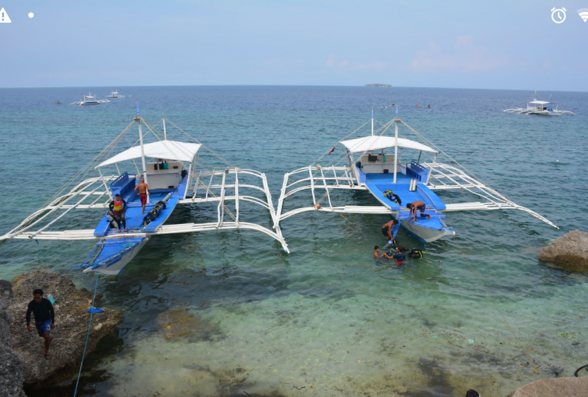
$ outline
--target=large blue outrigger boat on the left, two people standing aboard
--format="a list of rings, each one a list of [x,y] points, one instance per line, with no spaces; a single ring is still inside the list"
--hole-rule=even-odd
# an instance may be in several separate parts
[[[0,237],[0,241],[6,239],[98,239],[95,248],[79,267],[84,268],[84,271],[100,271],[106,275],[118,275],[129,261],[136,257],[149,239],[158,234],[251,229],[263,232],[279,241],[282,248],[288,252],[288,246],[279,226],[276,226],[274,231],[256,223],[241,221],[240,203],[261,206],[262,210],[270,212],[272,221],[275,221],[275,210],[265,174],[230,165],[172,122],[169,124],[185,133],[192,142],[169,140],[165,127],[166,121],[169,122],[165,118],[160,120],[163,122],[162,134],[156,128],[159,122],[155,125],[149,124],[139,115],[137,109],[137,115],[134,116],[131,124],[89,165],[78,172],[79,183],[75,183],[76,179],[72,178],[46,205]],[[133,124],[138,124],[138,140],[132,147],[111,156],[113,149]],[[147,127],[149,130],[146,135],[149,132],[152,133],[156,138],[154,142],[143,142],[142,127]],[[203,148],[209,153],[203,155],[201,153]],[[141,161],[142,172],[136,164],[138,159]],[[208,163],[211,159],[221,160],[223,164],[220,167],[212,167]],[[123,164],[131,165],[131,167],[134,165],[136,173],[121,172],[120,166]],[[107,175],[113,167],[116,174]],[[90,172],[98,173],[98,175],[86,178]],[[140,199],[134,190],[140,178],[145,178],[150,190],[145,207],[147,214],[141,213]],[[73,189],[63,194],[72,185]],[[125,212],[127,232],[119,232],[117,225],[112,223],[112,217],[104,214],[116,194],[120,194],[127,202]],[[228,201],[234,201],[235,207],[229,209],[226,205]],[[205,203],[216,204],[217,221],[165,224],[179,205],[202,206]],[[52,225],[59,225],[58,222],[64,216],[77,210],[89,209],[102,210],[99,216],[100,221],[94,229],[48,230]],[[205,207],[201,208],[201,211],[205,211]],[[226,221],[225,217],[229,216],[232,221]],[[33,231],[35,226],[37,230]]]

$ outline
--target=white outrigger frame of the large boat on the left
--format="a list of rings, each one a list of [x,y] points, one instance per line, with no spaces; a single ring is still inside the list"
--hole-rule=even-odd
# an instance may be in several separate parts
[[[151,125],[140,118],[149,131],[156,134],[156,125]],[[162,119],[165,120],[165,119]],[[125,128],[125,131],[121,133],[113,142],[119,140],[123,133],[125,133],[131,125],[136,123],[138,120],[135,119],[131,124]],[[161,120],[160,120],[161,121]],[[169,122],[169,120],[167,120]],[[172,124],[175,126],[175,124]],[[178,127],[176,127],[178,128]],[[179,128],[178,128],[179,129]],[[185,131],[183,131],[185,133]],[[186,133],[187,134],[187,133]],[[156,134],[157,135],[157,134]],[[188,135],[188,134],[187,134]],[[158,137],[159,138],[159,137]],[[160,138],[159,138],[160,139]],[[197,142],[197,141],[196,141]],[[199,142],[200,143],[200,142]],[[110,145],[109,145],[110,146]],[[203,145],[205,148],[205,146]],[[208,148],[206,148],[208,149]],[[106,150],[106,149],[105,149]],[[109,149],[109,153],[112,148]],[[208,149],[210,151],[210,149]],[[212,154],[214,152],[211,151]],[[215,156],[219,157],[217,154]],[[275,226],[275,230],[270,230],[264,226],[258,225],[257,223],[244,222],[239,219],[239,203],[248,202],[254,203],[261,207],[264,207],[270,212],[272,221],[275,224],[276,212],[273,206],[272,197],[268,187],[266,175],[262,172],[258,172],[253,169],[243,169],[239,167],[222,167],[221,169],[206,169],[205,165],[199,163],[199,158],[196,158],[194,165],[185,165],[186,169],[189,169],[189,181],[186,189],[185,196],[182,200],[178,201],[178,205],[194,205],[199,203],[218,203],[217,205],[217,222],[210,223],[179,223],[179,224],[163,224],[155,232],[127,232],[118,234],[119,237],[138,237],[138,235],[145,235],[151,237],[156,234],[175,234],[175,233],[188,233],[188,232],[205,232],[209,230],[237,230],[237,229],[248,229],[257,230],[267,234],[278,241],[285,252],[290,252],[288,245],[282,236],[282,231],[279,229],[279,225]],[[95,163],[99,163],[98,156],[95,160],[86,167],[93,167]],[[197,165],[201,166],[200,168]],[[19,223],[17,227],[10,230],[10,232],[0,237],[0,242],[8,239],[35,239],[35,240],[99,240],[101,237],[94,236],[94,229],[82,229],[82,230],[47,230],[51,225],[57,223],[64,216],[67,216],[73,210],[91,210],[91,209],[103,209],[107,210],[109,203],[112,200],[111,192],[108,188],[108,183],[115,180],[120,176],[120,170],[116,166],[118,174],[111,176],[103,176],[100,170],[100,176],[94,176],[92,178],[86,178],[80,183],[77,183],[66,194],[59,194],[50,202],[43,205],[39,210],[30,214],[24,221]],[[83,170],[82,170],[83,171]],[[141,173],[137,167],[136,178],[140,178]],[[253,185],[248,183],[240,183],[239,176],[253,176],[259,178],[259,185]],[[228,178],[233,179],[229,181]],[[262,192],[265,199],[259,199],[259,197],[252,196],[250,194],[244,194],[247,190],[255,190]],[[232,191],[232,194],[227,192]],[[203,197],[197,196],[199,192],[205,192]],[[189,196],[189,193],[191,196]],[[235,214],[226,206],[229,201],[235,202]],[[230,216],[232,221],[225,221],[225,215]],[[98,219],[97,219],[98,221]],[[34,226],[37,226],[36,230],[31,230]]]

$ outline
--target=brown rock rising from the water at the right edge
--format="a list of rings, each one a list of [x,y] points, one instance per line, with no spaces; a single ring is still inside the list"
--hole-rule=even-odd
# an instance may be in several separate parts
[[[541,248],[539,259],[568,270],[588,272],[588,232],[571,230]]]

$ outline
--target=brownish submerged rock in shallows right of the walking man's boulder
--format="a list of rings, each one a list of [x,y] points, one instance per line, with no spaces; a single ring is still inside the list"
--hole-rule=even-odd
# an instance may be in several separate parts
[[[208,340],[214,333],[219,331],[217,324],[200,322],[182,307],[172,307],[168,311],[159,313],[156,322],[161,326],[165,339],[178,338],[194,333],[196,338]]]

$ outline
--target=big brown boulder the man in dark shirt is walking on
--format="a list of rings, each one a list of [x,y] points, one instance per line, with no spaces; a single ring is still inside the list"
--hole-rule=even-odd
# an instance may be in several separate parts
[[[53,356],[50,360],[44,359],[44,340],[35,330],[28,332],[26,329],[26,308],[35,288],[42,288],[45,297],[53,295],[55,298],[55,342],[50,347]],[[15,318],[10,326],[15,339],[12,350],[25,364],[24,382],[30,385],[54,383],[76,373],[82,361],[93,293],[86,288],[75,289],[70,279],[42,270],[19,279],[12,290],[15,303],[8,308],[8,313]],[[100,297],[102,294],[96,295],[95,306],[98,306]],[[108,308],[104,308],[104,313],[93,315],[86,356],[95,350],[102,338],[118,327],[120,320],[120,313]]]

